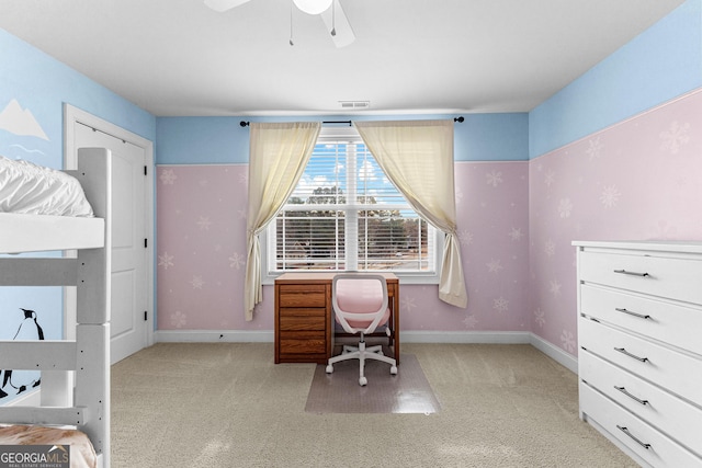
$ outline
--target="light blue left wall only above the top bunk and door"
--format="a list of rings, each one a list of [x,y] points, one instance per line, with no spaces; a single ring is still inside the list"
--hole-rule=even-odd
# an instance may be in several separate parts
[[[64,103],[155,141],[154,115],[4,30],[0,64],[0,155],[61,168]],[[30,135],[13,127],[19,115],[8,115],[15,103],[23,118],[31,113],[35,121]]]

